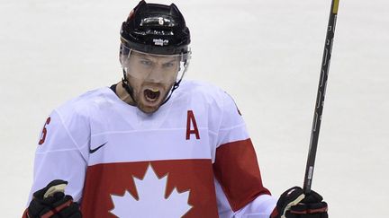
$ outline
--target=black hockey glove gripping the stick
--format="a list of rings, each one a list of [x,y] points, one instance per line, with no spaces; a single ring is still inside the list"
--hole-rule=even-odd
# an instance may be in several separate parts
[[[305,196],[301,187],[292,187],[280,196],[270,218],[328,218],[327,208],[318,193]]]

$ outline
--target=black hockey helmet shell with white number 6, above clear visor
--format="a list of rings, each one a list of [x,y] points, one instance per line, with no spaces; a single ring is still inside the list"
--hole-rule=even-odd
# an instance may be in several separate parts
[[[176,4],[147,4],[142,0],[122,22],[121,40],[125,48],[174,55],[188,51],[190,33]]]

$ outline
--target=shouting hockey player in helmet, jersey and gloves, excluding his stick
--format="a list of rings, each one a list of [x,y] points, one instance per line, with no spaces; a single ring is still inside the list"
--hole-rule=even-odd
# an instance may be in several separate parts
[[[189,43],[175,4],[140,1],[122,23],[122,81],[47,118],[23,217],[327,217],[313,191],[263,187],[231,97],[182,80]]]

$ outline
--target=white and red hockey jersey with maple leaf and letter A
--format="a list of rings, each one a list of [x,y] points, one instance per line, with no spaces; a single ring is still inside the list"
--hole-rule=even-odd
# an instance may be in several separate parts
[[[234,101],[199,82],[150,115],[108,87],[55,109],[31,193],[53,179],[68,181],[84,217],[268,217],[276,203]]]

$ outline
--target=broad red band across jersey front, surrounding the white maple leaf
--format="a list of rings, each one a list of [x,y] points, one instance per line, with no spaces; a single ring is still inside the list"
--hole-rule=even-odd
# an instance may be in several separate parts
[[[192,208],[183,216],[218,217],[211,160],[168,160],[104,163],[86,170],[81,210],[84,217],[116,217],[111,195],[123,196],[125,191],[139,199],[133,177],[143,179],[149,165],[158,178],[167,176],[165,197],[176,188],[179,193],[190,191],[187,204]],[[153,205],[150,205],[153,209]],[[167,208],[172,210],[171,208]]]

